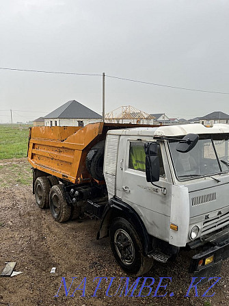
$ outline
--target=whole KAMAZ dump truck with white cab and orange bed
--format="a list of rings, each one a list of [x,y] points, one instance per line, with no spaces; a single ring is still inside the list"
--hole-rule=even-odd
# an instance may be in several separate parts
[[[33,194],[58,222],[100,218],[97,239],[132,276],[195,249],[216,277],[229,253],[229,125],[32,127]]]

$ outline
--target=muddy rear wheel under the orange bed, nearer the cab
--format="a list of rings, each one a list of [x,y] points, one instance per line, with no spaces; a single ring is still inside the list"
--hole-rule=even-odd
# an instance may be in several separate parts
[[[62,185],[55,185],[49,193],[49,205],[53,218],[57,222],[64,222],[70,218],[71,207],[65,199]]]

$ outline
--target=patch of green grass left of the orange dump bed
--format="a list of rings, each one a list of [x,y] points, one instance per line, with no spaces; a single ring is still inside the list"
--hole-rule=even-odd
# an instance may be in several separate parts
[[[0,160],[27,156],[29,125],[0,125]]]

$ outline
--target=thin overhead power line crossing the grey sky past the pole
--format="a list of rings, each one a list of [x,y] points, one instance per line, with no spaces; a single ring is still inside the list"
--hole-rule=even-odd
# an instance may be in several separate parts
[[[32,72],[32,73],[53,73],[53,74],[61,74],[61,75],[87,75],[87,76],[96,76],[96,77],[102,77],[101,74],[97,73],[67,73],[62,71],[40,71],[40,70],[30,70],[30,69],[18,69],[18,68],[3,68],[0,67],[1,70],[10,70],[10,71],[25,71],[25,72]],[[172,86],[172,85],[166,85],[166,84],[158,84],[158,83],[152,83],[148,81],[140,81],[137,79],[126,79],[124,77],[116,77],[113,75],[106,75],[106,77],[110,77],[112,79],[120,79],[122,81],[132,81],[135,83],[140,84],[146,84],[146,85],[152,85],[152,86],[161,86],[165,88],[174,88],[179,90],[189,90],[189,91],[195,91],[195,92],[207,92],[211,94],[229,94],[229,92],[220,92],[215,90],[202,90],[202,89],[196,89],[196,88],[186,88],[186,87],[179,87],[179,86]]]

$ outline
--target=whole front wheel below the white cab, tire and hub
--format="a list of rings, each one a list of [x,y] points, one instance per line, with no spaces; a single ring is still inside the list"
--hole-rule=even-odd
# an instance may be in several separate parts
[[[115,218],[109,230],[110,244],[116,262],[132,277],[144,275],[153,259],[142,254],[142,239],[124,218]]]

